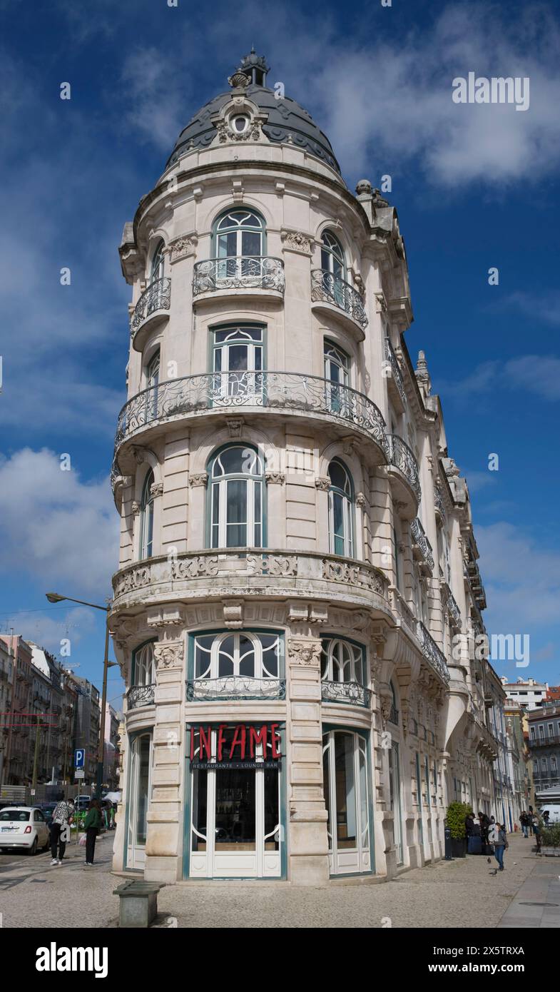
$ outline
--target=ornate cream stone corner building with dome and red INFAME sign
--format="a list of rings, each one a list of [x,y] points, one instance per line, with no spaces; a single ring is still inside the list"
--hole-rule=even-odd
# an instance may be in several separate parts
[[[114,867],[150,880],[391,877],[442,856],[451,800],[496,811],[492,670],[452,652],[484,632],[469,495],[403,340],[396,211],[267,71],[192,118],[120,248]]]

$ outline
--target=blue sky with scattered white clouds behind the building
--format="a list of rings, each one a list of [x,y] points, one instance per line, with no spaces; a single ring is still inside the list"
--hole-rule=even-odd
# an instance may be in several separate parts
[[[100,685],[101,614],[44,593],[111,591],[130,299],[117,245],[178,132],[254,45],[269,82],[328,134],[351,189],[392,176],[406,341],[413,360],[426,352],[469,481],[487,627],[531,639],[527,669],[497,669],[560,682],[558,8],[0,0],[0,19],[0,629],[55,652],[69,637],[78,674]],[[528,76],[528,110],[453,103],[452,79],[470,71]]]

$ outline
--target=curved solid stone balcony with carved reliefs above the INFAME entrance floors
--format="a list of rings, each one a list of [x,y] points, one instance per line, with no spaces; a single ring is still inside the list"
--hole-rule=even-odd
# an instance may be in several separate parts
[[[255,548],[208,549],[145,558],[113,576],[113,611],[147,603],[216,600],[256,595],[312,597],[315,603],[392,616],[389,579],[366,561],[316,552]]]

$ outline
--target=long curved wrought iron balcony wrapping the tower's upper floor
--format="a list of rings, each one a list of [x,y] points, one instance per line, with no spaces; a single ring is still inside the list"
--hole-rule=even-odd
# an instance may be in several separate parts
[[[117,421],[113,475],[118,474],[119,448],[141,431],[162,434],[169,422],[231,416],[240,410],[258,414],[261,422],[264,416],[283,414],[297,414],[309,423],[328,420],[344,433],[354,430],[373,441],[379,460],[389,460],[381,411],[348,386],[299,372],[208,372],[152,386],[125,404]]]

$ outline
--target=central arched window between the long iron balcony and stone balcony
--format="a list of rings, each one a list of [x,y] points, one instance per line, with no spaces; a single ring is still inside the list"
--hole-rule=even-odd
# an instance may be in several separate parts
[[[265,473],[257,451],[231,444],[214,455],[209,474],[210,546],[262,548]]]

